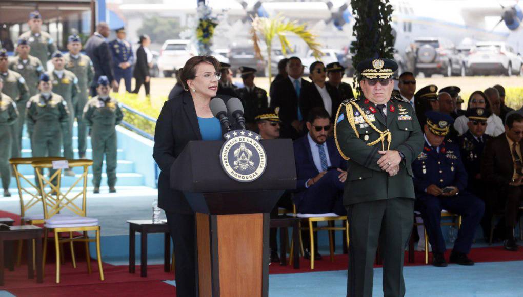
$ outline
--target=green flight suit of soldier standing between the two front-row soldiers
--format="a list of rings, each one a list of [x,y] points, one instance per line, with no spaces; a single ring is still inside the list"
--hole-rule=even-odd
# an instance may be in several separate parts
[[[74,122],[74,105],[80,92],[78,88],[78,78],[69,70],[63,70],[61,76],[54,70],[48,73],[53,84],[53,92],[59,94],[67,103],[67,110],[69,110],[69,128],[62,131],[62,142],[64,157],[66,159],[74,159],[73,152],[73,122]]]

